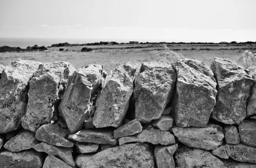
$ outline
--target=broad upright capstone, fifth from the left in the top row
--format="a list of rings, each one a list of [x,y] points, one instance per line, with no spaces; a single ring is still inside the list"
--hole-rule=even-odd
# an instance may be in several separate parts
[[[176,73],[168,61],[144,62],[135,78],[135,119],[159,119],[174,92]]]

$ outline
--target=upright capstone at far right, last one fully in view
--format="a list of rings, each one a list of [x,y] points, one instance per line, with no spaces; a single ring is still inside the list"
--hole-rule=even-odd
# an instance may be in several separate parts
[[[246,116],[246,102],[253,79],[246,69],[227,59],[214,58],[211,70],[218,82],[211,118],[224,124],[241,123]]]

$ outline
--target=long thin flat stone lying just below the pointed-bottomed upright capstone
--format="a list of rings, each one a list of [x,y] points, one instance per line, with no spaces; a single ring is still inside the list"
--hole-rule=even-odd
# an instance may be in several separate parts
[[[77,133],[72,133],[68,136],[78,142],[90,142],[97,144],[118,144],[118,140],[113,136],[113,130],[87,129],[79,130]]]

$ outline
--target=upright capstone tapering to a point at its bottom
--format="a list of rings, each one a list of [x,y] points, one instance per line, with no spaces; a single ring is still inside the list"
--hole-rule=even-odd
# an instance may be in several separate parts
[[[80,130],[84,120],[93,116],[105,78],[101,65],[90,64],[73,73],[58,107],[71,133]]]

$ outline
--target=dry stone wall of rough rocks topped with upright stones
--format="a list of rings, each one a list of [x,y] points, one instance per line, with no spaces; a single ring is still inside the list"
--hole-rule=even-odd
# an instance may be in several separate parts
[[[256,168],[256,67],[0,65],[1,168]]]

